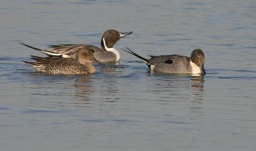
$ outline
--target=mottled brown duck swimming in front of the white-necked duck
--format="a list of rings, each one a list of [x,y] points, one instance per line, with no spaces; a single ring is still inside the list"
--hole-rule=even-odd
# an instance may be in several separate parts
[[[95,72],[95,68],[90,63],[93,60],[93,52],[92,49],[79,49],[76,59],[31,56],[35,62],[24,62],[34,67],[36,72],[47,74],[92,74]]]

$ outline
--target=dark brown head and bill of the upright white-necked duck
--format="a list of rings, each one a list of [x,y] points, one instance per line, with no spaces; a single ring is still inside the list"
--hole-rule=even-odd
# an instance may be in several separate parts
[[[102,38],[101,38],[102,49],[107,50],[108,48],[112,48],[113,45],[115,45],[120,38],[130,35],[131,33],[132,31],[129,31],[126,33],[120,33],[119,31],[116,31],[113,29],[109,29],[108,31],[105,31],[105,33],[102,35]]]

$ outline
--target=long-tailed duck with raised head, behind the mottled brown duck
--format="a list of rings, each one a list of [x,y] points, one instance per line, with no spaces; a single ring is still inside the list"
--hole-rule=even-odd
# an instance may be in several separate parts
[[[132,31],[127,33],[120,33],[119,31],[113,29],[105,31],[100,41],[102,49],[94,45],[86,44],[60,44],[50,45],[52,49],[50,51],[47,51],[32,47],[22,42],[20,42],[20,44],[35,49],[36,51],[43,52],[44,54],[47,54],[47,56],[58,56],[62,58],[75,58],[77,51],[79,51],[80,49],[92,49],[93,51],[95,51],[93,53],[93,56],[96,61],[100,63],[116,62],[120,61],[120,53],[115,48],[113,48],[113,45],[115,45],[116,42],[120,40],[120,38],[130,35],[131,33]]]

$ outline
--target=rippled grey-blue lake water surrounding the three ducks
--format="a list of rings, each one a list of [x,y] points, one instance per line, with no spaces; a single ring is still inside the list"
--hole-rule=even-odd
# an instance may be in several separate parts
[[[54,44],[100,46],[118,65],[51,76],[21,60]],[[205,53],[204,77],[150,74],[141,56]],[[0,2],[1,150],[255,150],[255,0]]]

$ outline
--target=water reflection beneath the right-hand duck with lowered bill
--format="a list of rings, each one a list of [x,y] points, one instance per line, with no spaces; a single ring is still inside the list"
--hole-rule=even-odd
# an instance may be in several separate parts
[[[204,99],[204,77],[195,75],[150,74],[148,89],[159,99],[179,102],[188,98],[191,102]],[[152,88],[154,90],[152,90]]]

